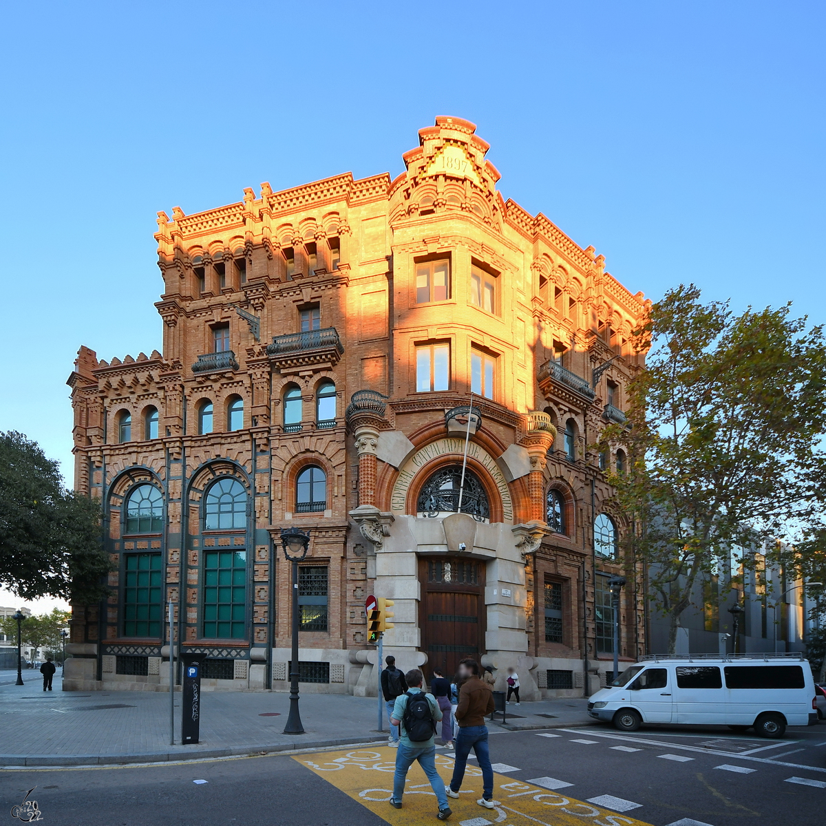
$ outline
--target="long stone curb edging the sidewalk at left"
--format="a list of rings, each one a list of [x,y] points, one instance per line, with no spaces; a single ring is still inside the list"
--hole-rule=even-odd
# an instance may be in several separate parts
[[[298,735],[299,737],[301,735]],[[349,746],[354,742],[387,743],[387,735],[372,735],[363,738],[339,738],[335,740],[312,740],[296,743],[263,744],[258,746],[230,746],[227,748],[205,748],[200,752],[143,752],[141,754],[0,754],[0,769],[40,767],[78,767],[78,766],[122,766],[126,764],[159,763],[181,760],[203,760],[208,757],[238,757],[240,755],[258,755],[261,752],[295,752],[308,748],[330,748]],[[187,748],[187,747],[184,747]],[[197,746],[195,747],[197,748]]]

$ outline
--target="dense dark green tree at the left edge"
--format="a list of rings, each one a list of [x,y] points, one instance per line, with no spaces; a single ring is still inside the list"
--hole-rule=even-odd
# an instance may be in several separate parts
[[[0,584],[24,599],[97,602],[108,569],[97,504],[63,487],[36,442],[0,433]]]

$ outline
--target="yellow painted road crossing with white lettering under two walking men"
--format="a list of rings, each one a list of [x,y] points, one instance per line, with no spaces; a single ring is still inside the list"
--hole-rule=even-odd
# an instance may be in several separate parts
[[[402,808],[394,809],[388,802],[396,769],[395,748],[345,749],[296,755],[292,759],[392,826],[438,822],[436,799],[418,762],[407,772]],[[453,758],[436,752],[436,769],[447,786],[453,774]],[[453,809],[449,822],[457,826],[468,821],[473,826],[649,826],[642,820],[496,773],[493,775],[496,809],[484,809],[476,802],[482,797],[482,771],[477,766],[468,766],[459,794],[459,800],[448,799]]]

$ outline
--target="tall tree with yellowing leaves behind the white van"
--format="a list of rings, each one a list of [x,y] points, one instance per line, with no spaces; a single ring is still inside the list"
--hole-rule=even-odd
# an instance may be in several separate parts
[[[782,565],[788,576],[824,564],[824,543],[795,550],[819,519],[826,456],[826,341],[790,306],[734,315],[681,285],[635,331],[647,363],[629,386],[628,422],[605,429],[629,468],[613,474],[633,518],[629,560],[646,563],[651,597],[676,648],[695,587],[729,569]],[[743,550],[745,549],[745,550]]]

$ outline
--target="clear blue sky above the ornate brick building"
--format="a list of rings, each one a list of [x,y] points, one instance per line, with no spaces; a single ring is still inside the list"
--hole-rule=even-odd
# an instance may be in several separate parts
[[[0,430],[71,479],[68,377],[160,348],[155,212],[401,172],[477,123],[632,292],[823,321],[822,2],[7,3]],[[257,190],[256,190],[257,191]]]

